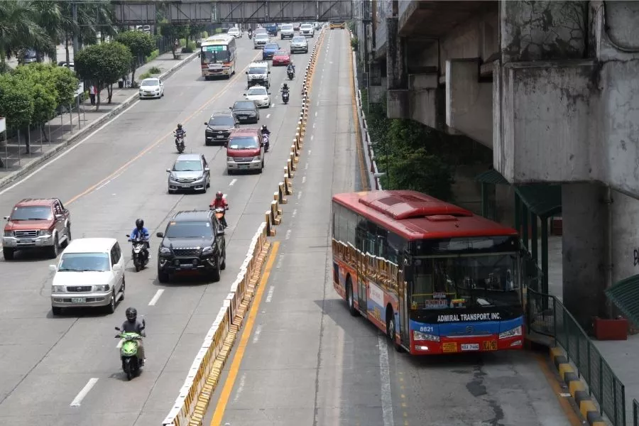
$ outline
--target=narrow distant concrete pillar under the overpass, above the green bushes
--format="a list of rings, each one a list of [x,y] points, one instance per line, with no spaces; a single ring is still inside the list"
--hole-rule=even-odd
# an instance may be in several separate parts
[[[386,111],[389,119],[407,119],[408,70],[403,40],[398,34],[398,18],[386,18],[386,77],[388,94]]]

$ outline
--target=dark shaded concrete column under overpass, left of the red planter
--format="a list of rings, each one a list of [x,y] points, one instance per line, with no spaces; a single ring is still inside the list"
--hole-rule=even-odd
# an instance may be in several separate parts
[[[581,327],[606,315],[606,187],[598,183],[562,185],[563,300]]]

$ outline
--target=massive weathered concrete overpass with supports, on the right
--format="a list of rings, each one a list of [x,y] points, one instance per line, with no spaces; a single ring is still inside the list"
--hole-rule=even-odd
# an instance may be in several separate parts
[[[536,249],[538,221],[544,234],[562,214],[569,310],[588,327],[609,315],[604,290],[639,269],[639,3],[372,9],[372,100],[386,94],[390,118],[491,148],[494,170],[479,179],[514,188],[514,202],[497,200],[515,210],[524,241],[530,229]]]

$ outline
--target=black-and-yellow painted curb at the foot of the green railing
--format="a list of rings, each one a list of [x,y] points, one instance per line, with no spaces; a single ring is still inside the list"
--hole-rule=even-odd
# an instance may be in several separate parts
[[[608,423],[603,420],[594,400],[590,397],[589,392],[586,391],[586,383],[574,371],[567,356],[564,354],[564,350],[559,348],[559,346],[550,348],[550,359],[557,367],[562,381],[568,386],[570,396],[579,407],[581,417],[584,417],[590,426],[607,426]]]

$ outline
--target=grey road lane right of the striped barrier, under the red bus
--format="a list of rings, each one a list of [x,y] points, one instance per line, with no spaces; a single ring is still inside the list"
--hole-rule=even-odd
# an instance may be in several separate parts
[[[398,354],[334,292],[331,195],[361,190],[349,50],[329,31],[280,246],[204,425],[570,425],[535,354]]]

